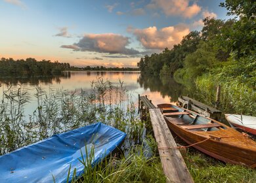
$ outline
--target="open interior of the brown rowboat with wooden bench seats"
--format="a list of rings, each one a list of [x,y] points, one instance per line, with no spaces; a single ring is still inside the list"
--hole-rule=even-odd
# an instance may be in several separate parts
[[[189,131],[217,131],[226,129],[223,125],[209,118],[175,105],[160,104],[158,108],[161,109],[165,120]]]

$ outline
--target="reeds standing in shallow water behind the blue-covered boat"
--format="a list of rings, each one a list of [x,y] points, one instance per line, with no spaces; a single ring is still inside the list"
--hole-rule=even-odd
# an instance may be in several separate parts
[[[131,103],[131,93],[123,83],[98,78],[91,90],[41,90],[37,87],[37,107],[25,116],[30,101],[28,89],[8,86],[0,96],[0,154],[77,127],[102,122],[127,133],[125,145],[142,142],[144,123]]]

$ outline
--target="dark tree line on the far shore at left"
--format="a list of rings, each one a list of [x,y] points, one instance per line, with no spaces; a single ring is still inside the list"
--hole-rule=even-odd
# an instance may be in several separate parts
[[[68,68],[70,68],[70,63],[51,62],[45,59],[41,61],[34,58],[0,59],[0,76],[59,75],[64,69]]]

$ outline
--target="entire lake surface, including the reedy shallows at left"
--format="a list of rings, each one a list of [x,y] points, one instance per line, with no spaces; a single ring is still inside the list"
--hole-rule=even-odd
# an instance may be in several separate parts
[[[146,135],[145,125],[137,119],[138,95],[147,95],[154,105],[175,103],[179,95],[189,93],[185,88],[173,78],[145,77],[135,71],[0,78],[0,155],[95,122],[125,131],[123,149],[129,150]],[[109,98],[110,103],[105,100]]]

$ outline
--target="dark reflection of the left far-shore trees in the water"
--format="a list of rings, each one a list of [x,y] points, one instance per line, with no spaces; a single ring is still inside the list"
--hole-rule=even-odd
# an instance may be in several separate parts
[[[62,78],[70,78],[70,72],[63,72],[58,76],[30,76],[30,77],[0,77],[0,82],[17,85],[17,84],[30,84],[38,85],[40,83],[52,84],[53,81],[60,83]]]

